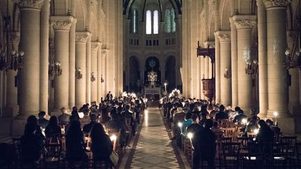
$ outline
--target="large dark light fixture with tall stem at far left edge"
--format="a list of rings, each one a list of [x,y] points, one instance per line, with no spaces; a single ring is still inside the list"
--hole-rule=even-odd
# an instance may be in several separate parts
[[[21,70],[23,68],[24,51],[17,51],[13,47],[13,25],[6,1],[6,17],[3,17],[3,40],[0,44],[0,70]]]

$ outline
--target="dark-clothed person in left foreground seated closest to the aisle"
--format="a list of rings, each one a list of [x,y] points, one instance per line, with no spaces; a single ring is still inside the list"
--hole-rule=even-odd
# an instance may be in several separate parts
[[[91,130],[91,151],[93,152],[94,160],[109,162],[109,156],[113,151],[113,144],[109,136],[105,133],[102,124],[95,124]]]

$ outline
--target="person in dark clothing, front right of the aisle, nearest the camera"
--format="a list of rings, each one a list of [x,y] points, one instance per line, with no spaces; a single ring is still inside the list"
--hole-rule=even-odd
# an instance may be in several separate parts
[[[213,120],[206,120],[204,128],[194,134],[192,145],[194,146],[193,168],[199,168],[200,160],[207,161],[210,168],[215,168],[216,136],[211,131]],[[203,148],[203,147],[206,147]],[[203,152],[207,150],[206,152]]]

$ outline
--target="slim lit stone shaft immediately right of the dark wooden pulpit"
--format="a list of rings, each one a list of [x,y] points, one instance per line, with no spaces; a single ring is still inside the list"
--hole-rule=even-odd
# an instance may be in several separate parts
[[[215,103],[221,102],[221,67],[220,67],[220,44],[219,44],[219,38],[217,37],[217,33],[215,32]],[[212,68],[212,67],[210,67]],[[209,70],[212,72],[212,70]],[[211,77],[209,77],[211,78]]]

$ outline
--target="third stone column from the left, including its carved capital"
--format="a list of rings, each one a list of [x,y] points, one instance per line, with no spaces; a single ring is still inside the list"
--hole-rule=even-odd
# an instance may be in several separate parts
[[[76,32],[75,67],[81,69],[82,79],[75,79],[75,105],[77,108],[86,104],[86,42],[90,33]]]

